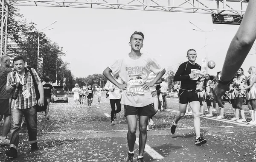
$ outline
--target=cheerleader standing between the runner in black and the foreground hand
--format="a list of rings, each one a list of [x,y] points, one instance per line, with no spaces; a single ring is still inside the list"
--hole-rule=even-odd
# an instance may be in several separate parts
[[[212,116],[212,99],[213,99],[213,94],[212,94],[212,81],[210,80],[210,75],[205,74],[205,80],[204,80],[204,91],[205,91],[205,101],[207,104],[207,109],[209,114],[205,116]]]

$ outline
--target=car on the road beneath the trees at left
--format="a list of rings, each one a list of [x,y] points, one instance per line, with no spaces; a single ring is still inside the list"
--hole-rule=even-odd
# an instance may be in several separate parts
[[[52,92],[52,103],[64,102],[68,103],[67,92],[64,90],[63,86],[53,86],[55,92]]]

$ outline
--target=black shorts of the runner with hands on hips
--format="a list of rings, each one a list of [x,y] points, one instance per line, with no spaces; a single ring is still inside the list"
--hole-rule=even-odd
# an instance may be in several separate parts
[[[154,103],[151,103],[143,107],[134,107],[129,105],[124,105],[124,107],[125,107],[125,117],[128,115],[150,116],[155,114]]]

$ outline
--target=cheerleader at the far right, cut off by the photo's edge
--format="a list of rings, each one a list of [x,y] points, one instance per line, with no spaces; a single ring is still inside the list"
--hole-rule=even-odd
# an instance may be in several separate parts
[[[248,124],[256,124],[256,70],[255,67],[250,67],[248,70],[250,74],[247,80],[247,87],[244,89],[248,91],[247,93],[247,104],[250,109],[250,114],[252,120]]]

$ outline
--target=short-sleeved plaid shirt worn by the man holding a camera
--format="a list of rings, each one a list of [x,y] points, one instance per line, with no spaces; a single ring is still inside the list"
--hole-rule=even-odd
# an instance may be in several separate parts
[[[28,71],[28,77],[26,77],[26,74],[24,76],[24,83],[25,85],[22,86],[22,89],[20,89],[18,98],[16,100],[12,100],[12,109],[28,109],[32,106],[35,106],[37,104],[36,101],[36,96],[35,96],[35,86],[33,82],[33,78],[29,72],[29,70],[25,67],[25,69]],[[32,73],[35,76],[35,81],[41,81],[41,78],[38,76],[38,73],[35,71],[35,69],[31,68]],[[7,76],[7,83],[6,87],[10,86],[10,84],[15,81],[16,83],[19,82],[19,80],[16,78],[16,70],[12,71],[11,73],[8,74]],[[21,80],[21,79],[20,79]],[[24,98],[22,95],[22,92],[24,90],[28,90],[31,96],[29,98]]]

